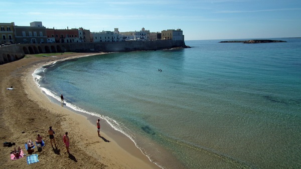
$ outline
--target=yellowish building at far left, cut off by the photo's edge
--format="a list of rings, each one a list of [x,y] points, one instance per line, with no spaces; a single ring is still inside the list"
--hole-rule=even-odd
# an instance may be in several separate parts
[[[0,23],[0,44],[15,43],[14,26],[15,22]]]

